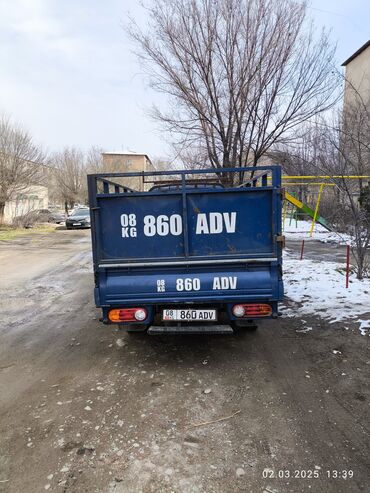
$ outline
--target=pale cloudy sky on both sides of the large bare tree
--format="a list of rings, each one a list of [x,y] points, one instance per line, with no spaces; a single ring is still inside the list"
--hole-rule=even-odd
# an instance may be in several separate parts
[[[0,0],[0,113],[49,151],[67,145],[168,152],[147,116],[148,88],[122,25],[145,23],[138,0]],[[369,0],[313,0],[340,64],[369,39]]]

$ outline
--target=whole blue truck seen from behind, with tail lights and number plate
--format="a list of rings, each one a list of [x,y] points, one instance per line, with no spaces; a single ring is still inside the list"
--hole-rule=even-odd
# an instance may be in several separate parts
[[[280,168],[228,176],[241,171],[255,175],[236,187],[222,185],[222,170],[88,176],[95,301],[105,323],[140,330],[277,316]],[[138,176],[148,191],[125,186]]]

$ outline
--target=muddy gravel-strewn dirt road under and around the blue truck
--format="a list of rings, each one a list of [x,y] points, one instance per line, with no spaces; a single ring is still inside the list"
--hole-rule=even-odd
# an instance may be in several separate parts
[[[357,327],[129,336],[98,321],[88,231],[4,242],[0,265],[0,491],[369,491]]]

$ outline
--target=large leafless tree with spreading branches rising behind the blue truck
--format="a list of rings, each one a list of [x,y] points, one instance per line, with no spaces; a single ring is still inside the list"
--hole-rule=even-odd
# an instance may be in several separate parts
[[[129,33],[170,98],[153,115],[215,168],[257,165],[337,100],[335,48],[314,34],[306,2],[156,0],[148,11],[148,31],[134,23]]]

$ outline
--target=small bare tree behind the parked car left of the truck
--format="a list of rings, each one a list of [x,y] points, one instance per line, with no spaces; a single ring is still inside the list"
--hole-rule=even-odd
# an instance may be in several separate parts
[[[74,147],[66,147],[51,158],[60,199],[66,213],[75,202],[87,199],[86,165],[83,153]]]

